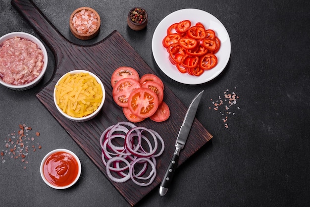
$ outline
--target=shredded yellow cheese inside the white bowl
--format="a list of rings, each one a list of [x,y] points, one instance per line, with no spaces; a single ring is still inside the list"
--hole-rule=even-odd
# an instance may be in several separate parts
[[[56,104],[71,117],[88,116],[96,111],[103,101],[102,87],[89,73],[68,73],[55,88]]]

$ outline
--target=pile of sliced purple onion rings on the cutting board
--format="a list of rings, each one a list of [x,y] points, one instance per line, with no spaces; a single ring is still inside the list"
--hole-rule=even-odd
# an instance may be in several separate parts
[[[146,136],[144,132],[151,136]],[[124,139],[123,145],[113,144],[112,140],[118,138]],[[154,181],[156,177],[155,157],[164,151],[164,141],[157,132],[146,127],[137,127],[131,122],[119,122],[104,130],[100,137],[100,145],[102,161],[111,181],[122,183],[131,178],[139,186],[148,186]],[[111,166],[112,163],[113,166]],[[138,167],[138,163],[141,166]],[[137,173],[135,168],[139,169]],[[118,174],[120,178],[113,176],[111,172]]]

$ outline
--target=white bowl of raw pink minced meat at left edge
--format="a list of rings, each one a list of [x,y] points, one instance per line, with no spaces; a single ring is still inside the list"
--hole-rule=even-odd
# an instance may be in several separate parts
[[[0,84],[16,91],[36,86],[48,65],[43,43],[25,32],[0,37]]]

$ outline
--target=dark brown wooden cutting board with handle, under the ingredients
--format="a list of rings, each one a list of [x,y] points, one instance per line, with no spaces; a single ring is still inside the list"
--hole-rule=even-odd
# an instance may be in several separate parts
[[[11,4],[33,26],[41,39],[52,50],[55,57],[54,76],[51,82],[36,95],[37,98],[106,176],[101,159],[100,136],[110,125],[119,121],[127,121],[122,109],[112,99],[111,74],[119,66],[133,67],[139,72],[140,76],[146,73],[154,74],[154,71],[117,31],[113,31],[98,44],[91,46],[75,45],[57,31],[32,1],[12,0]],[[82,123],[72,122],[61,116],[53,102],[55,83],[63,74],[75,69],[88,70],[97,74],[103,82],[106,93],[103,109],[99,115],[90,121]],[[125,183],[111,182],[131,206],[137,204],[150,191],[157,188],[175,149],[174,144],[187,106],[184,106],[168,87],[164,88],[164,101],[170,107],[171,115],[167,121],[155,123],[150,119],[146,119],[136,124],[137,126],[154,129],[164,139],[165,150],[160,157],[157,157],[155,181],[147,187],[140,187],[131,180]],[[195,119],[185,148],[181,151],[178,165],[187,160],[211,138],[212,135]]]

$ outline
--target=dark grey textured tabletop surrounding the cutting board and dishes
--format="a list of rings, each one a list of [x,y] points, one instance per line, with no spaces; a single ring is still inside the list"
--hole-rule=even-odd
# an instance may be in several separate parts
[[[179,167],[165,197],[160,197],[155,188],[136,206],[309,205],[309,1],[34,2],[60,34],[75,44],[96,44],[117,30],[185,106],[194,94],[205,90],[197,119],[213,135],[212,140]],[[126,23],[128,10],[137,5],[149,14],[148,26],[138,32]],[[89,41],[76,39],[68,26],[71,12],[81,6],[95,8],[102,19],[99,35]],[[152,54],[157,24],[182,8],[199,8],[213,14],[225,25],[231,39],[231,57],[223,73],[198,86],[169,79]],[[0,26],[0,36],[22,31],[40,38],[10,0],[0,1]],[[1,204],[129,206],[36,98],[55,68],[55,57],[50,49],[48,53],[48,72],[38,86],[25,92],[0,87],[0,150],[6,150],[5,138],[22,123],[33,128],[29,136],[41,133],[34,143],[42,146],[41,150],[29,152],[27,164],[7,156],[4,163],[0,161]],[[230,108],[235,115],[228,115],[228,129],[210,101],[223,97],[226,89],[239,96],[237,104]],[[83,165],[79,182],[68,190],[51,189],[39,173],[44,155],[56,148],[73,151]]]

